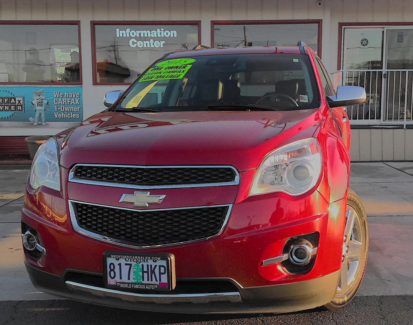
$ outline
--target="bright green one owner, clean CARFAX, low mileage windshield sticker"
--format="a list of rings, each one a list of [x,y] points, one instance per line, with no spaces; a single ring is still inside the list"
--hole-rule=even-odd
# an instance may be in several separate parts
[[[139,82],[151,80],[182,79],[186,72],[192,67],[191,64],[196,60],[194,58],[178,58],[161,61],[155,64],[142,75]]]

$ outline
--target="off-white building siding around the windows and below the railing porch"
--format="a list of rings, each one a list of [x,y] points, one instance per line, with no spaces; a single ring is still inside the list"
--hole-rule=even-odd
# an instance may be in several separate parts
[[[202,44],[210,45],[213,20],[291,19],[322,19],[322,59],[332,73],[337,70],[338,23],[411,22],[413,1],[323,0],[322,5],[317,5],[316,0],[0,0],[0,20],[81,22],[84,118],[104,109],[102,100],[107,91],[126,89],[124,86],[93,86],[90,21],[200,20]],[[0,133],[24,136],[58,131],[1,129]],[[413,159],[413,144],[408,141],[412,131],[355,129],[352,131],[352,160]]]

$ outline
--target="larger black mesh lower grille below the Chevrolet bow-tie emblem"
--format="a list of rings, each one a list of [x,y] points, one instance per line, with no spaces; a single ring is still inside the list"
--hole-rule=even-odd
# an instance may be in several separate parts
[[[196,241],[219,234],[230,207],[129,210],[73,201],[71,204],[78,231],[85,229],[138,247]]]

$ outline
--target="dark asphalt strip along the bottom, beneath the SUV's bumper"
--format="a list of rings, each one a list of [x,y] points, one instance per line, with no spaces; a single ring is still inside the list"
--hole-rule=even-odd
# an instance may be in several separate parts
[[[412,296],[356,297],[339,311],[311,310],[281,315],[185,315],[125,311],[69,300],[7,301],[0,303],[0,324],[412,324]]]

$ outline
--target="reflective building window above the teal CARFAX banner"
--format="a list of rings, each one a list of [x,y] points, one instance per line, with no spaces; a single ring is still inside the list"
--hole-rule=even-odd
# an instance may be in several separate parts
[[[0,84],[80,84],[78,21],[0,22]]]

